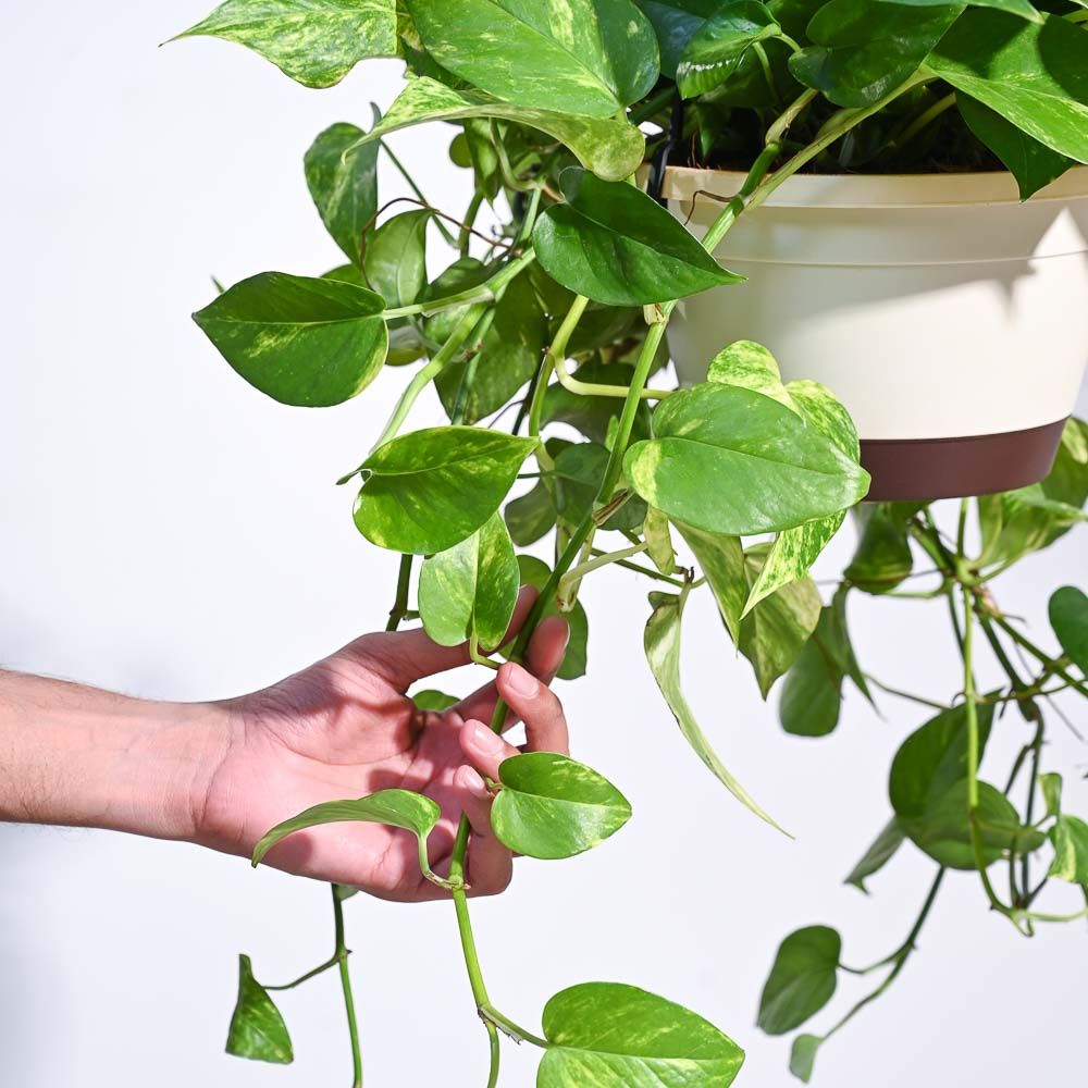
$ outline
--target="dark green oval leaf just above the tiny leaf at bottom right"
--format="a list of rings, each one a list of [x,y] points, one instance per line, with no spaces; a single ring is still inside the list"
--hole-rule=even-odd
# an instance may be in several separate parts
[[[842,940],[828,926],[808,926],[779,945],[759,998],[759,1027],[786,1035],[831,1000],[838,982]]]

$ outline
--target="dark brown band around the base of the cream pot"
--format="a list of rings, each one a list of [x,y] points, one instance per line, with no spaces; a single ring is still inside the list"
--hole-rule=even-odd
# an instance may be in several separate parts
[[[1002,434],[862,440],[873,477],[866,502],[929,502],[1038,483],[1054,463],[1065,420]]]

